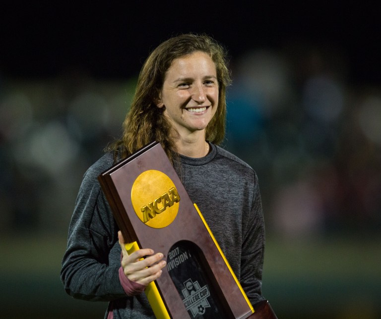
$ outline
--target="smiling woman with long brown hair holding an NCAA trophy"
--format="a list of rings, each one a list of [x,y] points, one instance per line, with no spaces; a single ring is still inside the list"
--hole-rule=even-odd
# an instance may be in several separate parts
[[[110,301],[105,318],[154,318],[142,291],[161,275],[163,254],[141,249],[128,256],[97,176],[155,140],[251,303],[264,300],[264,223],[257,177],[248,164],[217,146],[225,133],[229,83],[225,52],[210,37],[186,34],[163,42],[141,69],[122,139],[84,175],[61,277],[75,298]]]

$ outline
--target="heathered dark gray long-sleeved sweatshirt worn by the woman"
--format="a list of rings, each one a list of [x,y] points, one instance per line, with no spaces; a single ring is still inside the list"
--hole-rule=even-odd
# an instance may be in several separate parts
[[[199,159],[180,156],[175,169],[254,305],[264,299],[264,221],[257,176],[226,150],[213,144],[210,149]],[[112,302],[115,319],[155,318],[145,294],[127,296],[119,280],[118,226],[97,180],[112,165],[113,155],[106,154],[83,177],[69,225],[61,279],[74,298]]]

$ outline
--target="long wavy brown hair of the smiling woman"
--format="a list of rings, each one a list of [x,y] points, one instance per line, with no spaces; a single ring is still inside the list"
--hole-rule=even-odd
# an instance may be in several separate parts
[[[124,159],[152,141],[160,142],[167,156],[174,161],[176,147],[170,138],[171,126],[163,111],[154,103],[162,90],[167,70],[174,59],[194,52],[207,53],[213,60],[218,81],[219,99],[216,113],[206,127],[206,140],[220,144],[225,136],[226,87],[230,84],[226,50],[203,34],[183,34],[161,43],[141,68],[135,95],[123,123],[123,136],[107,148],[115,158]]]

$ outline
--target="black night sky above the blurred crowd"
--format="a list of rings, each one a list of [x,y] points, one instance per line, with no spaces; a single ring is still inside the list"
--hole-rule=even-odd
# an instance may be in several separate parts
[[[99,78],[124,78],[135,75],[148,53],[170,36],[205,32],[233,57],[249,49],[278,50],[289,43],[335,47],[347,61],[350,82],[381,83],[376,4],[93,2],[1,4],[3,76],[50,77],[78,69]]]

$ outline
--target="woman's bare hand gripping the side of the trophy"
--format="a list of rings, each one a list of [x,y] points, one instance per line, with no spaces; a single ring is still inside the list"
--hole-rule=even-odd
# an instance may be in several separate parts
[[[162,273],[162,268],[166,265],[162,253],[155,255],[152,249],[139,249],[128,255],[125,240],[122,232],[118,232],[119,244],[122,248],[122,267],[126,277],[141,285],[148,285],[156,280]]]

